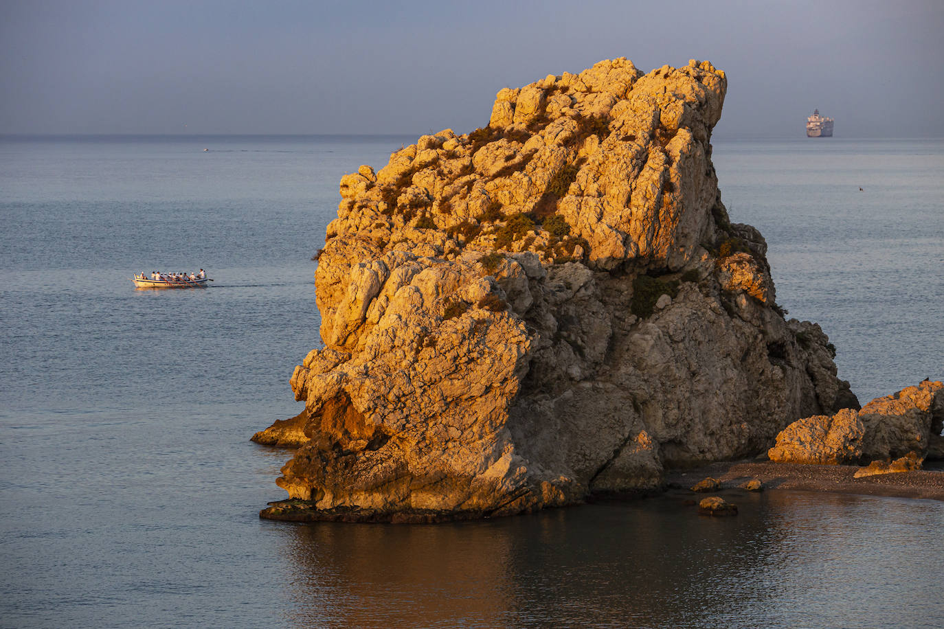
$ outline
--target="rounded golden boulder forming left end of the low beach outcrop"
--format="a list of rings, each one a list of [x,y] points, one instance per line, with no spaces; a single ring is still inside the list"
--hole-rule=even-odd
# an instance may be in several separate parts
[[[859,414],[843,408],[833,416],[814,415],[788,425],[767,451],[771,461],[842,465],[859,460],[865,435]]]

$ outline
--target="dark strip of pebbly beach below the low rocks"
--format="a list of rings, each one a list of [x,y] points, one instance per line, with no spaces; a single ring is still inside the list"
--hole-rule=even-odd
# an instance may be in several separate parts
[[[854,465],[798,465],[773,461],[726,461],[691,470],[669,472],[669,488],[690,488],[706,476],[721,481],[721,488],[738,488],[750,478],[765,489],[834,491],[869,496],[895,496],[944,501],[944,469],[898,472],[853,478]]]

